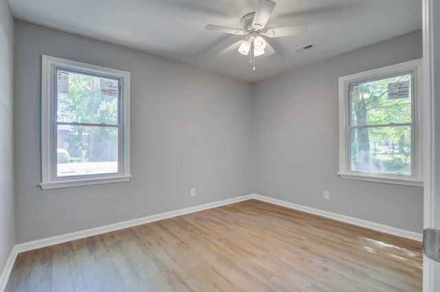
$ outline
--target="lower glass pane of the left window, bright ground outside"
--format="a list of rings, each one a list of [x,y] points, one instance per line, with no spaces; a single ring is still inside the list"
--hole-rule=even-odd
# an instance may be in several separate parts
[[[118,172],[118,127],[58,125],[56,176]]]

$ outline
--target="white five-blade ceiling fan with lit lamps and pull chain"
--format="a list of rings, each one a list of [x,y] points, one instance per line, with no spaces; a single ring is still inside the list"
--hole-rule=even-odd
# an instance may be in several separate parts
[[[264,31],[275,5],[276,3],[270,0],[259,0],[259,5],[256,7],[256,11],[248,13],[241,18],[241,26],[243,27],[243,30],[211,24],[206,25],[205,29],[213,30],[215,32],[224,32],[226,34],[245,36],[244,40],[235,42],[219,53],[230,53],[236,48],[238,48],[238,51],[244,56],[248,56],[250,53],[249,62],[254,63],[253,69],[255,70],[255,57],[261,55],[267,57],[275,53],[275,50],[269,45],[269,42],[267,42],[263,36],[267,36],[268,38],[278,38],[281,36],[294,36],[296,34],[307,32],[307,23],[277,27]]]

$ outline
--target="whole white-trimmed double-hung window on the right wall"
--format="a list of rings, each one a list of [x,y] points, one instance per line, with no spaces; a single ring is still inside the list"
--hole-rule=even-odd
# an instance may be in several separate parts
[[[339,78],[341,178],[423,186],[421,59]]]

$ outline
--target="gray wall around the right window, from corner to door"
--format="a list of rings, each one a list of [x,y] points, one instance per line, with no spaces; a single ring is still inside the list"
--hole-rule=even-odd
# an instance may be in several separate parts
[[[421,232],[423,188],[336,174],[338,77],[421,56],[421,32],[413,32],[256,82],[254,193]]]

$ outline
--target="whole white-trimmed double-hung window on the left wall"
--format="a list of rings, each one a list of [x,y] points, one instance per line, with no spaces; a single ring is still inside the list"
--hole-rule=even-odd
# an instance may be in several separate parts
[[[130,73],[42,56],[41,188],[130,179]]]

